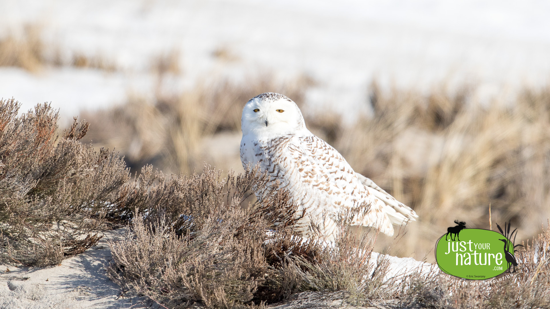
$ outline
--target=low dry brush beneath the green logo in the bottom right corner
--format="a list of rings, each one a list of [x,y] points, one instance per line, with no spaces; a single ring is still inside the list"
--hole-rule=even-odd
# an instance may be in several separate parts
[[[534,245],[533,245],[534,244]],[[525,245],[525,243],[524,243]],[[448,275],[412,275],[403,286],[400,307],[407,308],[548,308],[550,307],[550,229],[515,255],[515,273],[488,280],[460,280]],[[478,285],[473,285],[478,284]]]

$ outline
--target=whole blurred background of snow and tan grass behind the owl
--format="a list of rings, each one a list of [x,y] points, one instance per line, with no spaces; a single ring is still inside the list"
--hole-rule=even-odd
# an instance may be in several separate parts
[[[0,98],[88,120],[84,141],[133,172],[189,173],[242,170],[242,107],[281,92],[415,209],[392,254],[421,259],[455,219],[488,228],[489,203],[519,239],[550,217],[548,16],[547,1],[0,0]]]

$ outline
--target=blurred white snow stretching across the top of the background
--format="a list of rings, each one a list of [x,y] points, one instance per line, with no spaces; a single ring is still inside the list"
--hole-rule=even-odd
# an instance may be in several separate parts
[[[129,89],[151,96],[152,59],[179,51],[177,89],[268,71],[282,79],[312,76],[318,84],[307,100],[342,110],[361,106],[373,79],[423,91],[469,82],[487,100],[546,85],[548,13],[545,1],[4,0],[0,37],[39,24],[64,57],[101,55],[120,71],[2,69],[0,97],[16,97],[25,108],[51,101],[74,113],[120,103]],[[218,48],[239,60],[213,57]]]

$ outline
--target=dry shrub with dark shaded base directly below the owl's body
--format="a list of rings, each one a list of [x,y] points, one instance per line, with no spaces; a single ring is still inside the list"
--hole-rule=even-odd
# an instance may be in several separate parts
[[[389,266],[387,257],[378,255],[372,260],[378,232],[358,233],[351,225],[351,218],[359,211],[366,210],[357,208],[338,214],[339,233],[333,242],[304,241],[285,233],[273,235],[266,244],[266,253],[274,273],[266,277],[259,298],[271,302],[287,300],[303,291],[345,291],[340,299],[367,306],[396,296],[392,286],[400,277],[384,278]]]

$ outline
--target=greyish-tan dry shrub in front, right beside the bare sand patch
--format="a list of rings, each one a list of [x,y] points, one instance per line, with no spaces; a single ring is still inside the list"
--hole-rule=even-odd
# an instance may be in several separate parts
[[[215,215],[219,217],[206,220],[203,229],[183,237],[162,218],[144,225],[138,216],[127,241],[111,244],[110,277],[124,289],[170,307],[202,301],[231,308],[250,301],[266,271],[261,251],[265,235],[262,230],[235,235],[232,228],[247,223],[244,211]]]

